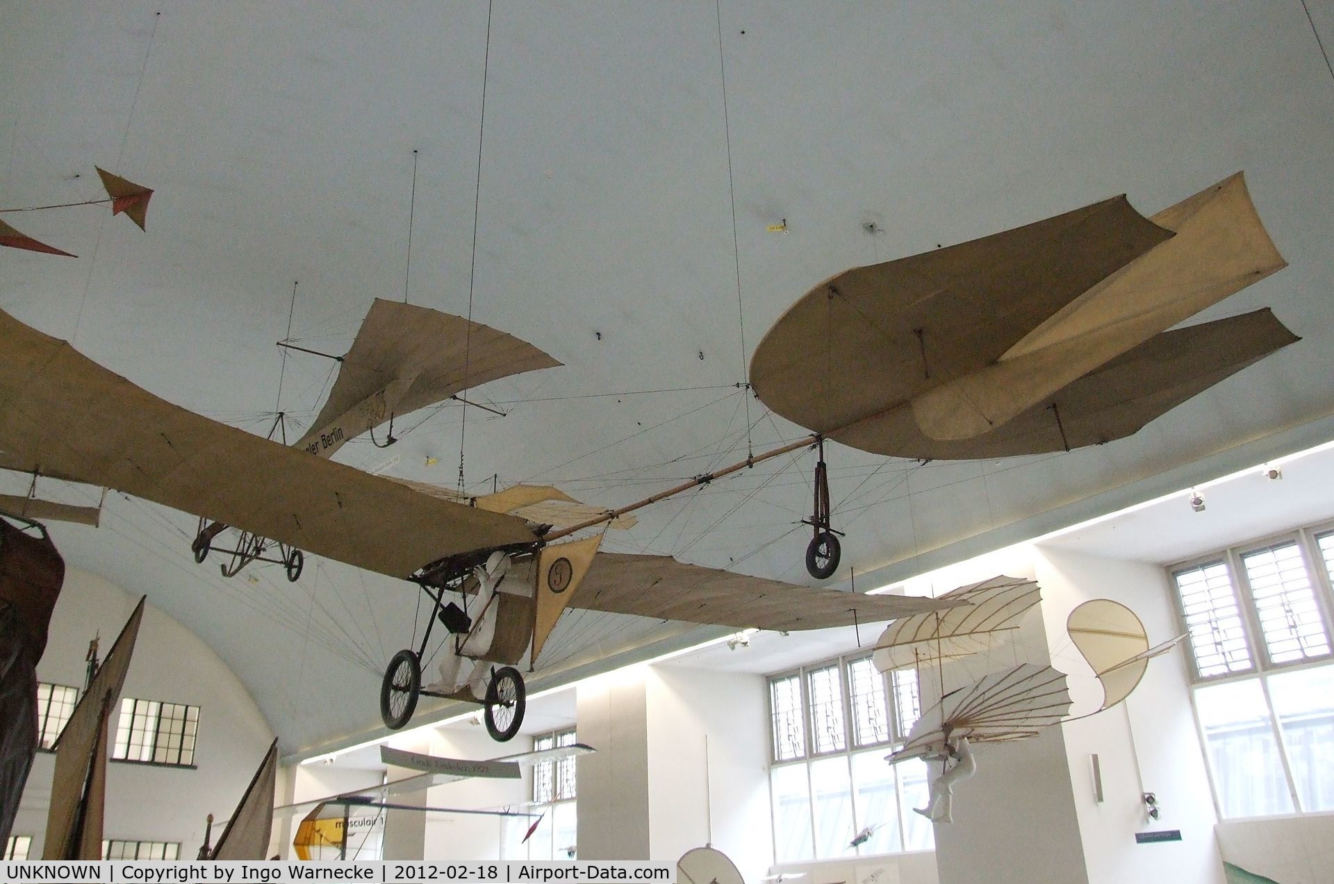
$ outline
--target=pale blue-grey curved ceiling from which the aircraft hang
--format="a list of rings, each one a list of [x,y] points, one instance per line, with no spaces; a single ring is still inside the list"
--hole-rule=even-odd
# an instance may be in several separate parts
[[[1330,43],[1334,8],[1310,9]],[[5,249],[0,308],[219,420],[308,421],[331,363],[289,355],[279,397],[292,283],[292,336],[335,353],[371,299],[403,296],[418,151],[412,301],[466,315],[471,291],[474,319],[564,363],[472,393],[508,416],[470,411],[470,487],[554,481],[615,505],[744,457],[739,319],[748,351],[847,267],[1122,192],[1153,212],[1245,169],[1291,265],[1202,317],[1270,305],[1303,340],[1095,449],[923,467],[831,447],[838,579],[1323,432],[1334,77],[1299,0],[496,0],[490,53],[487,12],[4,3],[0,205],[93,197],[93,164],[156,193],[147,233],[104,207],[7,215],[79,259]],[[648,389],[675,392],[607,395]],[[756,401],[748,419],[756,449],[800,435]],[[456,405],[419,413],[395,448],[340,459],[452,485],[460,423]],[[804,583],[811,465],[780,457],[644,511],[610,547]],[[285,749],[371,727],[411,587],[315,561],[295,585],[224,581],[191,561],[193,527],[112,495],[103,528],[57,540],[215,647]],[[590,647],[619,641],[584,627]]]

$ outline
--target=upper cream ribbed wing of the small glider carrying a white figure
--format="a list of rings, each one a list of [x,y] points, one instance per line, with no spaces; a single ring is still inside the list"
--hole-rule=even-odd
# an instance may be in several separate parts
[[[966,604],[890,624],[871,657],[880,672],[982,653],[1005,632],[1018,628],[1019,619],[1042,600],[1037,583],[1006,576],[959,587],[940,597]]]

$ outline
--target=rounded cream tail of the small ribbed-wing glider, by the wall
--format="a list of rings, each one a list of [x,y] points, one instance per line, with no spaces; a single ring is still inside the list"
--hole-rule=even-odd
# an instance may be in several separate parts
[[[1145,677],[1149,661],[1186,637],[1179,635],[1150,648],[1149,633],[1135,612],[1111,599],[1093,599],[1077,607],[1066,619],[1066,632],[1102,683],[1102,705],[1087,715],[1129,697]]]

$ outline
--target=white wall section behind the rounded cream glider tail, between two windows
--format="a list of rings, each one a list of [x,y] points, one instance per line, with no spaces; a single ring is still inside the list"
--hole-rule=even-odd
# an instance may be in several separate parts
[[[1053,657],[1071,676],[1077,713],[1097,708],[1102,693],[1067,637],[1066,617],[1075,605],[1089,599],[1127,605],[1143,621],[1150,644],[1179,635],[1171,585],[1161,567],[1041,545],[1034,560]],[[1186,667],[1185,648],[1178,645],[1150,661],[1123,704],[1061,727],[1090,884],[1225,880]],[[1094,799],[1094,753],[1102,767],[1101,804]],[[1145,815],[1141,773],[1143,792],[1153,792],[1162,808],[1153,823]],[[1165,829],[1181,829],[1182,840],[1135,843],[1137,832]]]

